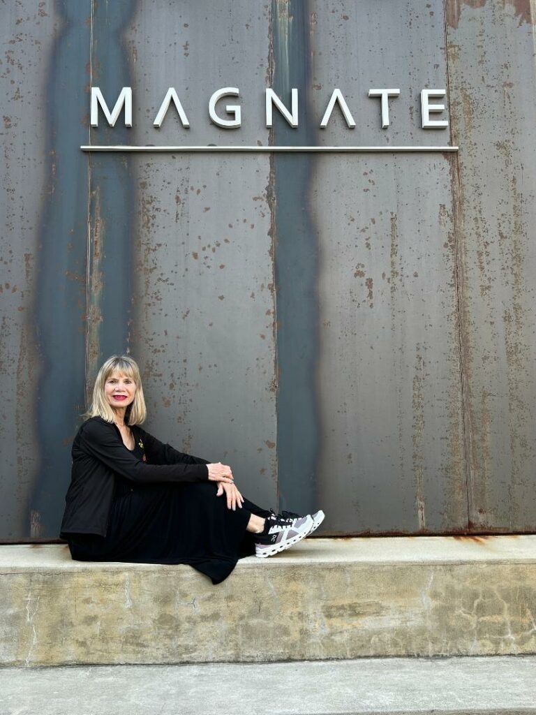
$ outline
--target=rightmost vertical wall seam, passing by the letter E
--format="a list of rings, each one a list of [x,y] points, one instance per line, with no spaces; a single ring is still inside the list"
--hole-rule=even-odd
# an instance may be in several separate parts
[[[443,5],[443,30],[445,34],[445,64],[447,66],[447,107],[451,107],[450,104],[450,71],[449,71],[449,43],[447,34],[447,5],[451,0],[445,0]],[[449,121],[449,134],[450,134],[450,144],[452,146],[452,118]],[[465,471],[465,498],[467,503],[467,531],[470,531],[471,526],[471,485],[472,485],[472,473],[470,469],[470,415],[467,411],[466,399],[467,393],[465,390],[465,370],[464,370],[464,348],[462,340],[462,309],[463,309],[463,285],[460,281],[460,271],[462,272],[462,267],[460,265],[461,255],[460,255],[460,240],[458,236],[458,199],[460,197],[460,162],[458,153],[452,157],[449,155],[448,161],[452,162],[451,166],[455,168],[455,177],[452,177],[452,227],[454,230],[454,267],[455,267],[455,291],[456,291],[456,318],[457,318],[457,334],[458,334],[458,358],[460,360],[460,393],[462,397],[462,458],[464,463]]]

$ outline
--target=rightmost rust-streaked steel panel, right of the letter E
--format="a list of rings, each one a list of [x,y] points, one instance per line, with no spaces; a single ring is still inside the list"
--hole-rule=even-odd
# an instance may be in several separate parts
[[[447,2],[473,530],[536,528],[536,72],[530,0]]]

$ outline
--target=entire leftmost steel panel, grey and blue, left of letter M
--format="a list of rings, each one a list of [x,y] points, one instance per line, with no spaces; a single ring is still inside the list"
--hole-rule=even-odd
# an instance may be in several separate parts
[[[1,538],[56,538],[83,408],[89,3],[4,4]],[[66,350],[66,346],[69,349]]]

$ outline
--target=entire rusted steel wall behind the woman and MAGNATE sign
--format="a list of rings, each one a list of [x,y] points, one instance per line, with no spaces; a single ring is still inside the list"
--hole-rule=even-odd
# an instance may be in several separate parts
[[[531,9],[532,8],[532,9]],[[324,533],[532,531],[530,0],[0,6],[0,540],[54,539],[101,361],[147,429]],[[133,127],[89,127],[89,87]],[[171,109],[177,88],[190,121]],[[242,127],[209,122],[239,87]],[[299,127],[264,122],[264,88]],[[357,127],[334,110],[334,87]],[[371,87],[399,87],[382,129]],[[447,130],[419,94],[447,89]],[[456,144],[458,154],[84,154],[81,144]]]

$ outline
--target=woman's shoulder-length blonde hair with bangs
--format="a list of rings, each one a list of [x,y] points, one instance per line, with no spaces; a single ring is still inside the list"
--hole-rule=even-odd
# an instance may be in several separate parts
[[[88,419],[90,417],[101,417],[106,422],[114,422],[114,410],[106,402],[104,397],[104,385],[111,373],[117,370],[121,375],[125,375],[134,381],[136,385],[136,393],[134,394],[134,402],[132,402],[125,411],[124,421],[128,425],[141,425],[147,417],[147,408],[145,406],[144,390],[142,388],[142,377],[139,374],[139,368],[136,360],[133,360],[129,355],[112,355],[102,365],[96,376],[93,387],[93,399],[91,406],[82,417]]]

